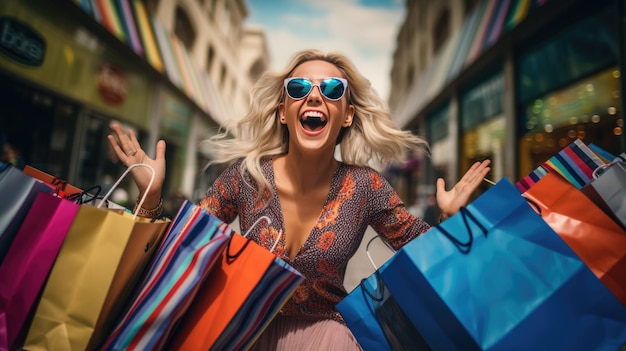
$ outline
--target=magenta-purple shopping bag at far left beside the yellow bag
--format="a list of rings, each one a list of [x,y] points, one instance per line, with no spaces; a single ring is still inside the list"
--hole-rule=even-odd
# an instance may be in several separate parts
[[[80,205],[39,192],[0,264],[0,350],[26,337],[40,291]]]

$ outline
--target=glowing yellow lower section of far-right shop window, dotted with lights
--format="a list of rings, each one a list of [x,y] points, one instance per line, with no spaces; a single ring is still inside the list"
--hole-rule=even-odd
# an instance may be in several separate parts
[[[612,67],[548,93],[525,106],[520,177],[582,139],[618,155],[623,150],[620,71]]]

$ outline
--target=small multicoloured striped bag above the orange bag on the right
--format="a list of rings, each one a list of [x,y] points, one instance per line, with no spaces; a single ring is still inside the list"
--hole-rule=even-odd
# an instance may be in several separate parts
[[[520,192],[524,192],[548,172],[556,172],[580,189],[591,181],[593,171],[605,163],[587,144],[576,139],[515,185]]]

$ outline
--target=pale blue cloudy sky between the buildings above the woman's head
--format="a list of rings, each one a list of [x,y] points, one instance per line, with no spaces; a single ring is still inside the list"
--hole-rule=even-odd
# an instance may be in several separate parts
[[[387,100],[404,0],[247,0],[247,25],[262,26],[271,68],[301,49],[347,55]]]

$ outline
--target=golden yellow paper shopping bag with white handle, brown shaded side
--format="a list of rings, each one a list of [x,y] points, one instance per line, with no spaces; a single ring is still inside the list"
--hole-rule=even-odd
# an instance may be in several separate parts
[[[70,351],[98,346],[106,328],[122,312],[168,224],[82,205],[42,292],[23,348]]]

